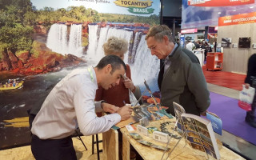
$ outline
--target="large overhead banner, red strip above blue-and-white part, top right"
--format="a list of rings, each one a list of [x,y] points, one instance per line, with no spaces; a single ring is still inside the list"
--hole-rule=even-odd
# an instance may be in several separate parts
[[[255,0],[182,0],[182,29],[218,26],[219,17],[255,11]]]

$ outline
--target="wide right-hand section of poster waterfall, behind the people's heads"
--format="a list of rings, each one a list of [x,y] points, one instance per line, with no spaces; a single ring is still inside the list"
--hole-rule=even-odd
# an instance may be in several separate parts
[[[129,43],[134,42],[132,53],[130,53],[132,61],[128,61],[129,50],[124,58],[124,62],[126,63],[133,62],[133,64],[130,63],[130,68],[134,85],[140,86],[142,91],[144,91],[145,86],[143,82],[145,79],[150,86],[150,90],[153,92],[158,90],[157,78],[160,62],[156,56],[150,54],[150,50],[147,48],[145,41],[146,35],[142,35],[141,32],[136,32],[133,39],[133,31],[117,29],[110,26],[102,27],[99,35],[97,31],[98,25],[89,25],[89,47],[87,54],[92,58],[91,60],[97,63],[104,56],[102,45],[111,36],[124,38]]]

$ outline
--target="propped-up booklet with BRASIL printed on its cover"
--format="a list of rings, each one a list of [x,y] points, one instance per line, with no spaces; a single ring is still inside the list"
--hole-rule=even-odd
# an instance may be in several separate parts
[[[194,114],[182,114],[183,126],[190,146],[215,159],[220,159],[218,145],[211,122]]]

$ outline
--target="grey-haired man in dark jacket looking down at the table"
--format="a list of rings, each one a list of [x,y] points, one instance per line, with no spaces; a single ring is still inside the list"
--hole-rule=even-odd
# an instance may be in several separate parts
[[[158,75],[161,104],[174,115],[173,102],[182,105],[188,114],[205,115],[210,106],[210,93],[198,58],[190,51],[174,44],[166,25],[153,26],[146,34],[152,55],[163,60]]]

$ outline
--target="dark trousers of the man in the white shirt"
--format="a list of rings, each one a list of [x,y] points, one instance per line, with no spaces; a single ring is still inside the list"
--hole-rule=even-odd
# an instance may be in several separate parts
[[[77,160],[71,137],[44,140],[33,134],[31,150],[37,160]]]

